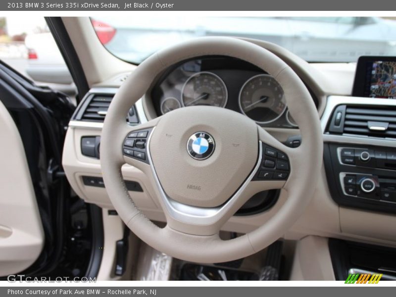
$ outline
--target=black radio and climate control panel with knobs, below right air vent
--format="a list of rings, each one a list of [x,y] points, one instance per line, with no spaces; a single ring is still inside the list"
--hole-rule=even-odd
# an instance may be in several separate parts
[[[324,161],[338,204],[396,213],[396,148],[326,144]]]

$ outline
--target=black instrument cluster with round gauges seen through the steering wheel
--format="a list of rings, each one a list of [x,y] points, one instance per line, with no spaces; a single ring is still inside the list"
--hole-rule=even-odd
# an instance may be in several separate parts
[[[242,113],[262,127],[297,128],[276,79],[236,58],[206,56],[177,64],[157,80],[150,99],[157,116],[210,105]]]

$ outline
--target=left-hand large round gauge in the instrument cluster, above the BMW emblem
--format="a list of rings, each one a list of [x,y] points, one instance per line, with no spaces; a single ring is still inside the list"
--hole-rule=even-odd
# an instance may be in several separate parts
[[[224,107],[227,103],[227,88],[220,77],[211,72],[198,72],[189,79],[182,89],[184,106],[211,105]]]

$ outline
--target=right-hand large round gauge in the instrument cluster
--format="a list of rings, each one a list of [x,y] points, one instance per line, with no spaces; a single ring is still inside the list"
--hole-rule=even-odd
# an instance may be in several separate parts
[[[277,120],[286,109],[282,87],[271,75],[251,77],[239,93],[241,111],[259,124]]]

